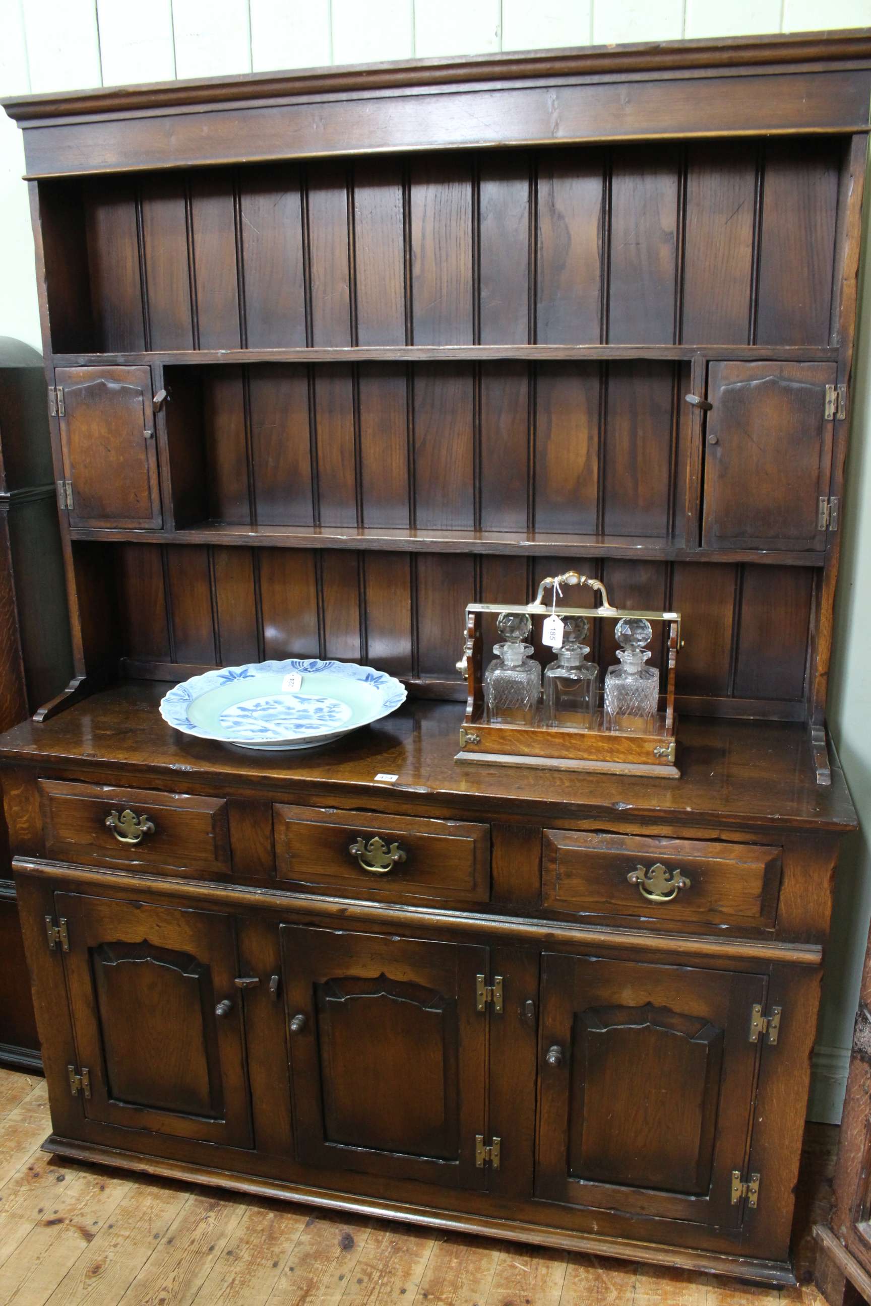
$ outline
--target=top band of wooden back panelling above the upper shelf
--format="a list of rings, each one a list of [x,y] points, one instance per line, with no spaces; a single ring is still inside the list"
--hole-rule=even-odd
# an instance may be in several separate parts
[[[312,161],[80,191],[63,351],[829,342],[829,137]]]

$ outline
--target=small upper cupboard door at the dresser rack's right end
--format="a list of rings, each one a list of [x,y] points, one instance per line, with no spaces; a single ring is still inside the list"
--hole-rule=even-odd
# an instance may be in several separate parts
[[[703,545],[825,549],[834,363],[710,363]]]

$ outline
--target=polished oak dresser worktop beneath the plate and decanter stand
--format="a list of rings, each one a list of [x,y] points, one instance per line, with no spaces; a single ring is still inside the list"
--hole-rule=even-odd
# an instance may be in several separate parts
[[[25,721],[0,737],[0,757],[77,773],[102,772],[112,782],[142,773],[178,777],[232,791],[330,790],[370,799],[390,794],[462,810],[525,811],[554,818],[716,818],[845,831],[855,811],[833,757],[832,785],[819,786],[807,731],[799,725],[686,717],[679,722],[680,780],[589,774],[531,767],[456,763],[464,705],[407,703],[393,716],[341,742],[300,752],[261,754],[222,747],[175,731],[158,704],[167,686],[120,683],[51,721]],[[396,781],[376,781],[379,774]]]

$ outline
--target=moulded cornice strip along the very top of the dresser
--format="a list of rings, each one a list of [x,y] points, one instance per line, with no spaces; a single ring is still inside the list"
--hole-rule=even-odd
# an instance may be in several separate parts
[[[9,95],[0,101],[16,121],[78,118],[127,110],[195,107],[251,99],[316,95],[355,90],[415,90],[475,82],[524,82],[534,77],[578,77],[602,73],[682,72],[784,67],[871,60],[871,29],[831,33],[782,33],[764,38],[703,38],[619,46],[569,47],[546,51],[436,56],[376,64],[328,65],[304,71],[243,73],[230,77],[185,78],[137,86],[94,88],[67,93]]]

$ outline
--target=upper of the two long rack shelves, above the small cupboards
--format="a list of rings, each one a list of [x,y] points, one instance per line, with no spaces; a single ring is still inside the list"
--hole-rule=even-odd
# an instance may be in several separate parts
[[[179,349],[124,354],[54,354],[56,367],[124,367],[158,363],[486,363],[595,362],[657,359],[691,362],[700,357],[736,362],[816,362],[837,359],[834,346],[816,345],[380,345],[325,349]]]

